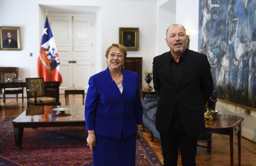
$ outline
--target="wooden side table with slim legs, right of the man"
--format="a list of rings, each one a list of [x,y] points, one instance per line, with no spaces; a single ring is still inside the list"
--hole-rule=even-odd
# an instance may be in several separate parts
[[[238,165],[241,166],[241,122],[243,117],[235,115],[217,115],[216,120],[205,120],[205,131],[210,133],[229,135],[230,166],[234,162],[234,136],[237,133]]]

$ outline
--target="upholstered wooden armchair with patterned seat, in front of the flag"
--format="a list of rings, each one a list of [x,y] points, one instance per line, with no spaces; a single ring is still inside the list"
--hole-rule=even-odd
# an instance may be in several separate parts
[[[27,101],[29,105],[56,105],[56,98],[48,97],[57,93],[56,89],[45,89],[44,78],[26,78]]]

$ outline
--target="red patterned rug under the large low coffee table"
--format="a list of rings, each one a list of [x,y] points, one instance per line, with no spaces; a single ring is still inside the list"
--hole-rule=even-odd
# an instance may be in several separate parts
[[[24,128],[22,149],[14,150],[14,118],[0,122],[0,166],[92,166],[85,126]],[[162,166],[144,138],[136,146],[136,166]]]

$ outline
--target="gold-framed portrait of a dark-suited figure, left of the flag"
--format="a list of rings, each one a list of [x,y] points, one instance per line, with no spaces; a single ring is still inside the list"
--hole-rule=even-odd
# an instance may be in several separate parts
[[[0,49],[1,50],[21,50],[20,28],[0,27]]]

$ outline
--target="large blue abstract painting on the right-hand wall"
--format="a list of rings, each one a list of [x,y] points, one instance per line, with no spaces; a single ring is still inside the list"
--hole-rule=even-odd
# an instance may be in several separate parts
[[[256,109],[256,0],[199,0],[198,50],[218,98]]]

